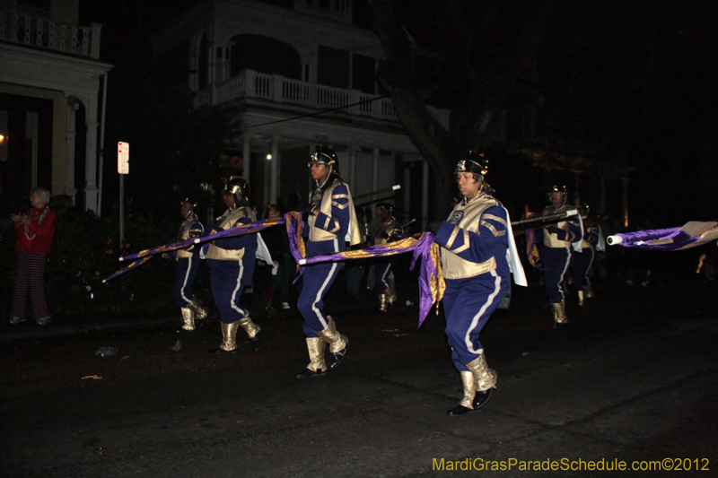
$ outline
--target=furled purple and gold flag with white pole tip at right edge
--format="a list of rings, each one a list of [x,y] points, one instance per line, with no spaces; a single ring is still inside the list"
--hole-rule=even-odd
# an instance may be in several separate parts
[[[718,222],[687,222],[679,228],[638,230],[614,234],[606,239],[610,246],[652,250],[695,248],[718,239]]]

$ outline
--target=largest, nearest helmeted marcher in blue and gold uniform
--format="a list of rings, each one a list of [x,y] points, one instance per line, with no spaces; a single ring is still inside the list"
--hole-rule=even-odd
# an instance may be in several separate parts
[[[497,375],[486,364],[479,333],[510,287],[508,213],[484,182],[488,162],[469,152],[457,166],[463,199],[442,222],[434,241],[442,246],[446,280],[443,309],[451,360],[460,371],[464,397],[448,413],[459,416],[484,406]]]

